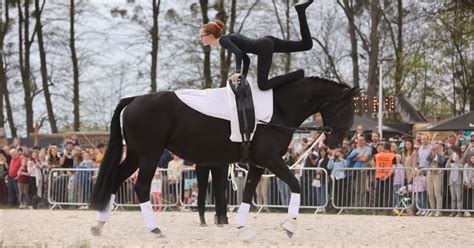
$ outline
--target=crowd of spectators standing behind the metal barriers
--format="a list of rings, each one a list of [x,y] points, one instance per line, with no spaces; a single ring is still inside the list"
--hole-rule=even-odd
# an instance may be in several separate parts
[[[301,184],[302,206],[318,206],[325,211],[332,200],[340,208],[376,207],[396,212],[410,205],[416,215],[441,216],[440,209],[452,210],[450,216],[471,215],[474,132],[468,136],[464,132],[453,133],[445,140],[434,140],[427,134],[417,135],[415,140],[403,136],[383,140],[377,132],[366,132],[359,125],[352,137],[343,140],[341,147],[330,150],[314,146],[312,151],[304,153],[317,137],[316,132],[295,135],[283,157]],[[54,193],[53,198],[59,202],[82,203],[79,208],[87,209],[94,173],[97,173],[87,169],[98,168],[103,156],[103,144],[81,149],[77,136],[66,137],[60,146],[51,144],[32,149],[14,139],[0,153],[0,203],[33,208],[47,197],[50,170],[77,168],[86,170],[56,171],[52,175],[62,178],[58,185],[63,188]],[[295,163],[297,160],[299,163]],[[196,206],[199,190],[194,168],[194,164],[169,151],[163,153],[151,185],[155,211],[161,211],[164,204],[170,203],[181,209]],[[438,168],[449,170],[436,170]],[[232,196],[230,205],[241,201],[245,185],[242,170],[235,170],[237,191],[228,187],[227,195]],[[287,205],[288,185],[270,174],[266,171],[260,179],[255,203]],[[128,186],[119,190],[119,203],[136,203],[133,185],[137,175],[138,171],[130,177]],[[407,201],[412,198],[414,202]],[[434,211],[428,211],[430,209]]]

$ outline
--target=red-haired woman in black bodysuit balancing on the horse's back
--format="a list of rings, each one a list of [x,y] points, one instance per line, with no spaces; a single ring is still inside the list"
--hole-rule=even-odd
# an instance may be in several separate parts
[[[297,70],[286,75],[281,75],[268,79],[273,59],[273,53],[291,53],[307,51],[313,47],[311,33],[306,21],[306,8],[313,1],[305,1],[295,5],[298,19],[300,22],[301,41],[281,40],[273,36],[265,36],[259,39],[250,39],[240,34],[222,35],[224,23],[217,20],[204,24],[200,30],[201,41],[204,46],[222,46],[235,55],[236,70],[231,76],[236,81],[240,74],[247,76],[250,59],[247,53],[258,56],[257,64],[257,83],[261,90],[268,90],[281,85],[290,80],[304,78],[304,71]],[[243,69],[242,69],[243,62]]]

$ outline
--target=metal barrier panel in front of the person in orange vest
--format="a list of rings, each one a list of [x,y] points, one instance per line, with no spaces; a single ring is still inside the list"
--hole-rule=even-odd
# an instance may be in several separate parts
[[[411,211],[405,168],[338,168],[332,172],[332,205],[348,210]]]

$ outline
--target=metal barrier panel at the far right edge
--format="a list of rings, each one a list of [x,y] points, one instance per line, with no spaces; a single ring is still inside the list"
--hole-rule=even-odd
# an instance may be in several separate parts
[[[417,215],[471,216],[474,212],[474,168],[448,163],[447,168],[423,168],[416,172],[413,189]]]

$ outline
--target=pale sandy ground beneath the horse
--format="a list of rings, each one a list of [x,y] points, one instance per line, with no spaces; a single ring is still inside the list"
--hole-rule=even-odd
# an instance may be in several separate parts
[[[298,231],[289,239],[279,227],[285,214],[251,213],[250,241],[237,239],[235,213],[230,225],[217,227],[207,213],[199,227],[193,212],[164,212],[156,220],[166,235],[145,229],[138,211],[114,212],[100,237],[89,229],[96,212],[80,210],[0,210],[0,247],[473,247],[474,218],[390,217],[300,214]],[[3,243],[3,244],[2,244]]]

